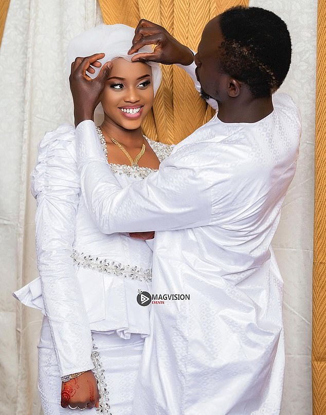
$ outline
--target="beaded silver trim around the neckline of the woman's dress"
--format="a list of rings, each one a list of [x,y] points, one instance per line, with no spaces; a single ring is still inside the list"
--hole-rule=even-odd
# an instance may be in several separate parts
[[[102,134],[102,131],[99,127],[96,128],[96,131],[97,131],[99,139],[101,141],[105,157],[107,158],[107,147],[106,147],[105,138],[104,138],[104,136]],[[157,156],[157,158],[159,159],[160,162],[163,161],[166,157],[168,157],[171,154],[171,151],[173,150],[173,146],[170,146],[168,144],[164,144],[162,142],[151,140],[146,136],[144,136],[144,138],[147,139],[149,145],[151,146],[151,148],[155,152],[155,154],[156,154],[156,156]],[[129,165],[125,165],[125,164],[108,163],[108,165],[110,166],[112,172],[115,173],[115,174],[125,174],[128,177],[133,176],[135,178],[136,177],[145,178],[150,173],[152,173],[154,171],[157,171],[157,169],[151,169],[149,167],[129,166]]]

